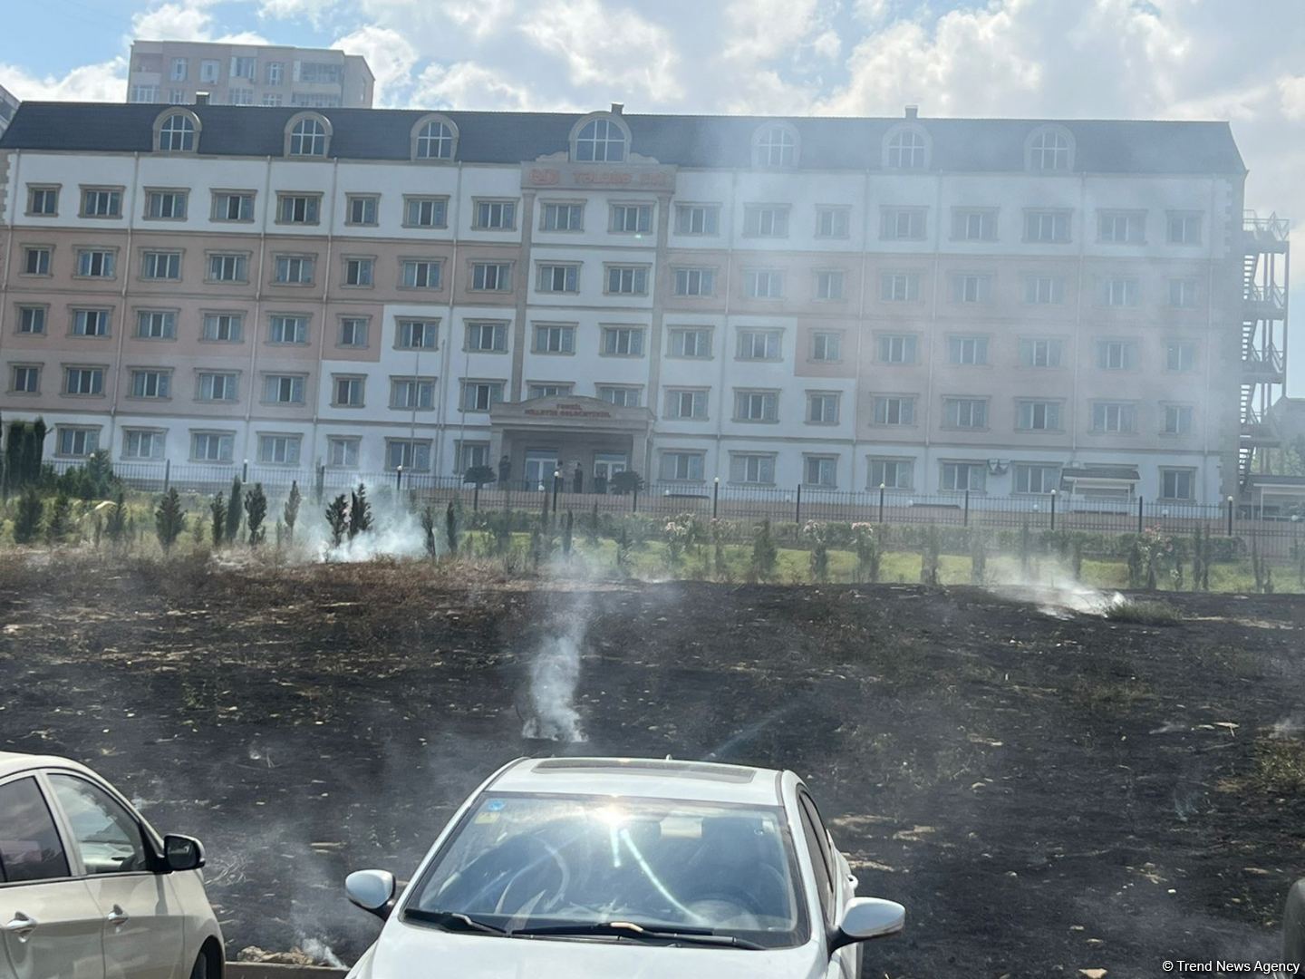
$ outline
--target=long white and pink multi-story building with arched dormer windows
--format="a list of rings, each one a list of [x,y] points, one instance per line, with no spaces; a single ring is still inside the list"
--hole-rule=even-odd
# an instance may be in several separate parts
[[[1223,123],[26,103],[0,174],[54,457],[1214,503],[1283,382]]]

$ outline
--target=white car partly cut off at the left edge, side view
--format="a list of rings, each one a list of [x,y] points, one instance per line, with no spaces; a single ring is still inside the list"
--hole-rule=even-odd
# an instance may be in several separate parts
[[[0,752],[5,979],[219,979],[202,865],[85,765]]]

